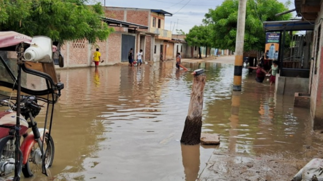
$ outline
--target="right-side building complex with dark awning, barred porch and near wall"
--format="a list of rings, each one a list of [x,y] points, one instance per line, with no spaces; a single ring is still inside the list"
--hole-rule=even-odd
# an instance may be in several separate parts
[[[295,107],[309,107],[313,129],[323,129],[322,2],[294,0],[300,19],[263,23],[266,31],[281,32],[280,47],[285,47],[287,35],[291,37],[290,47],[279,50],[276,94],[293,95]],[[306,31],[306,34],[293,31]]]

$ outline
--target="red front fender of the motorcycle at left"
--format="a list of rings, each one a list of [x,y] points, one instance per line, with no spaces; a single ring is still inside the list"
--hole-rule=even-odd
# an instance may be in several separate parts
[[[41,134],[41,138],[43,138],[44,128],[39,128],[38,130]],[[49,133],[47,129],[45,130],[45,132]],[[28,162],[30,152],[32,151],[32,148],[35,145],[35,143],[37,143],[37,141],[34,138],[34,133],[30,132],[28,136],[24,139],[22,145],[20,146],[20,149],[23,152],[23,165],[25,165]]]

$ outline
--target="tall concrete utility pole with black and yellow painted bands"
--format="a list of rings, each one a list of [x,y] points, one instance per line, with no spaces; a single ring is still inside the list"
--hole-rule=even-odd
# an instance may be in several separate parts
[[[235,40],[234,91],[241,91],[246,6],[247,0],[239,0],[237,36]]]

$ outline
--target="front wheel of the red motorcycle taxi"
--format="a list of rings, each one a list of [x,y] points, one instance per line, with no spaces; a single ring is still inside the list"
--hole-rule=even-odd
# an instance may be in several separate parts
[[[49,137],[48,134],[45,135],[45,166],[49,168],[53,164],[54,154],[55,154],[55,147],[54,141],[52,137]],[[33,177],[34,173],[42,172],[42,153],[41,147],[36,142],[33,145],[32,151],[29,155],[28,162],[23,166],[22,172],[25,178]]]

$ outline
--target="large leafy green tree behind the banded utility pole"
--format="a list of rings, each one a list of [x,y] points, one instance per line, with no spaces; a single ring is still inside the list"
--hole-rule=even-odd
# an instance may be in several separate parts
[[[213,29],[210,36],[214,40],[214,47],[235,50],[239,0],[224,0],[215,9],[209,9],[205,14],[204,23]],[[264,50],[265,32],[263,21],[288,20],[291,14],[275,16],[279,12],[288,10],[277,0],[248,0],[246,9],[244,50]]]

